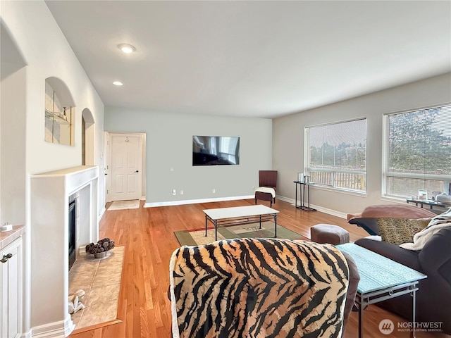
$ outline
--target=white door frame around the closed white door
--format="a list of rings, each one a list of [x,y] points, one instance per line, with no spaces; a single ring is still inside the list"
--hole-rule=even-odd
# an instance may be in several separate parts
[[[120,135],[120,136],[140,136],[141,137],[141,146],[142,146],[142,154],[141,154],[141,197],[140,199],[145,200],[146,195],[146,134],[143,132],[105,132],[105,163],[104,166],[104,176],[105,176],[105,202],[113,201],[111,199],[111,135]]]

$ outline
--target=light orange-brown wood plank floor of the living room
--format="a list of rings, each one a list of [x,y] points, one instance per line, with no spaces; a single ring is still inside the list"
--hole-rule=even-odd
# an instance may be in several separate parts
[[[188,204],[158,208],[106,211],[100,223],[100,238],[109,237],[117,245],[125,245],[121,294],[118,318],[122,323],[87,330],[70,335],[71,338],[169,338],[171,337],[171,303],[167,298],[169,285],[169,259],[180,245],[174,231],[191,230],[205,224],[203,209],[247,206],[253,200]],[[108,206],[107,206],[108,207]],[[280,211],[278,224],[310,237],[309,227],[318,223],[340,225],[350,232],[351,241],[365,237],[361,228],[349,225],[346,220],[318,211],[307,212],[296,209],[284,201],[273,205]],[[107,298],[108,295],[105,295]],[[364,310],[364,337],[409,337],[409,332],[397,329],[383,335],[378,325],[383,319],[397,323],[406,322],[377,306]],[[343,337],[357,337],[357,313],[352,313]],[[419,338],[450,337],[445,334],[417,332]]]

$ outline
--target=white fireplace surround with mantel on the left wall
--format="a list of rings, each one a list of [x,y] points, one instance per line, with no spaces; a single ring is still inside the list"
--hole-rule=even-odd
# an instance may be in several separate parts
[[[99,168],[79,166],[31,177],[31,327],[42,337],[68,336],[68,201],[77,199],[76,248],[99,240]],[[78,250],[77,250],[78,257]],[[52,335],[56,334],[56,336]]]

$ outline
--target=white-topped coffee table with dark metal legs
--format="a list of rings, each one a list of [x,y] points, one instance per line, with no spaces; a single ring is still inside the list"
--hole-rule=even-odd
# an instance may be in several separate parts
[[[235,206],[233,208],[205,209],[205,236],[208,222],[214,225],[214,239],[218,240],[218,226],[239,225],[245,223],[260,223],[261,221],[274,220],[274,238],[277,237],[277,214],[278,211],[267,206],[257,204],[256,206]]]

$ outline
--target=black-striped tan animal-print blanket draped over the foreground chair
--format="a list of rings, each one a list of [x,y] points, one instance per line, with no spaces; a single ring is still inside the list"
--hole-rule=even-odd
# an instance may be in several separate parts
[[[182,246],[170,274],[173,338],[341,336],[349,271],[330,244]]]

